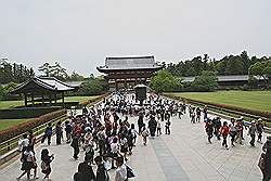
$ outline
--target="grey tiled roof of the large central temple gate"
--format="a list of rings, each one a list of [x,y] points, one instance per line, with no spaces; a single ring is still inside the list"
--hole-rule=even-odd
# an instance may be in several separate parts
[[[154,56],[120,56],[106,57],[105,65],[98,67],[98,70],[125,70],[125,69],[160,69],[155,63]]]

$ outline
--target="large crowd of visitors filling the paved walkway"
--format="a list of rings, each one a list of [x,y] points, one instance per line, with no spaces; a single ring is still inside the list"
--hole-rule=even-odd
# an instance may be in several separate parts
[[[244,129],[248,129],[251,146],[255,146],[256,135],[257,142],[262,143],[263,124],[261,119],[257,122],[253,121],[249,126],[242,117],[232,118],[231,122],[221,122],[220,117],[211,118],[209,116],[207,106],[201,109],[156,94],[150,94],[144,105],[139,106],[134,94],[116,93],[104,99],[101,104],[89,108],[83,107],[82,114],[70,116],[69,120],[64,124],[57,122],[55,126],[56,144],[64,142],[65,133],[65,142],[73,147],[74,159],[79,158],[80,151],[85,152],[83,161],[78,165],[78,170],[73,177],[75,181],[108,181],[108,170],[111,169],[115,169],[115,181],[127,181],[129,178],[136,177],[132,168],[127,165],[127,160],[132,154],[137,138],[141,137],[142,144],[147,145],[147,138],[154,139],[162,133],[171,134],[171,117],[178,116],[179,119],[182,119],[182,115],[186,114],[186,108],[192,124],[202,122],[203,114],[209,143],[212,143],[214,135],[217,140],[222,138],[222,146],[229,150],[228,137],[230,135],[231,146],[235,146],[236,143],[243,144]],[[130,121],[129,117],[136,117],[138,121]],[[47,144],[50,145],[52,134],[52,125],[48,124],[41,142],[44,143],[47,140]],[[29,135],[25,134],[20,142],[24,172],[17,180],[26,173],[29,179],[31,169],[34,169],[34,178],[37,178],[34,144],[35,137],[31,131]],[[270,148],[262,155],[266,167],[261,170],[264,172],[264,178],[268,178],[270,170],[269,172],[266,170],[271,168],[267,166],[270,165],[270,158],[268,158]],[[47,148],[42,150],[43,179],[48,179],[50,176],[50,163],[53,158],[54,156],[49,155]],[[268,160],[269,164],[267,164]],[[94,165],[95,172],[93,171]]]

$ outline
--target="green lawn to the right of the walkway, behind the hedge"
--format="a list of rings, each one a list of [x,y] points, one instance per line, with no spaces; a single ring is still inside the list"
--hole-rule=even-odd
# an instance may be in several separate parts
[[[177,92],[177,96],[271,112],[271,91]]]

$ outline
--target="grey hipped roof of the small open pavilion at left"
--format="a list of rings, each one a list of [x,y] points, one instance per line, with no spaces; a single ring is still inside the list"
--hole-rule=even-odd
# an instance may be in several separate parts
[[[31,92],[35,92],[38,91],[38,89],[62,92],[72,91],[75,88],[54,77],[33,77],[18,85],[11,93],[27,93],[29,92],[29,90],[31,90]]]

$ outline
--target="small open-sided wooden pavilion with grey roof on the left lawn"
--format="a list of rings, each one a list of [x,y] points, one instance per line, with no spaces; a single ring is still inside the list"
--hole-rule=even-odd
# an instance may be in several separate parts
[[[75,90],[74,87],[54,78],[54,77],[33,77],[25,82],[18,85],[11,93],[24,94],[25,106],[28,102],[34,106],[35,102],[41,102],[42,105],[49,102],[56,104],[59,99],[62,99],[64,104],[64,93]]]

